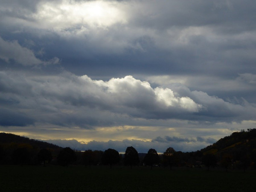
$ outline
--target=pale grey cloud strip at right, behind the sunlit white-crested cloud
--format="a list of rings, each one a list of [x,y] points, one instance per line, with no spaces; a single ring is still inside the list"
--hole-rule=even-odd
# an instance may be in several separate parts
[[[232,79],[223,79],[217,76],[192,76],[192,75],[170,75],[170,76],[147,76],[143,79],[154,86],[168,87],[179,96],[189,96],[191,90],[201,90],[209,96],[218,96],[236,104],[243,104],[244,99],[250,103],[255,102],[255,86],[253,78],[255,74],[237,74]]]

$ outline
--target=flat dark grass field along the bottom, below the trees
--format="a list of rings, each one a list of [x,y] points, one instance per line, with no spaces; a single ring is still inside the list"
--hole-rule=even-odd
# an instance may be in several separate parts
[[[108,166],[0,166],[3,192],[254,192],[255,171]]]

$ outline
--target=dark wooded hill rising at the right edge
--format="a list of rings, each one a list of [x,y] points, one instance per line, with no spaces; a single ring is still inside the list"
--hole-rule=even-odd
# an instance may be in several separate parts
[[[227,168],[256,168],[256,129],[241,130],[201,149],[206,157],[216,158],[217,165]],[[209,159],[208,163],[211,161]]]

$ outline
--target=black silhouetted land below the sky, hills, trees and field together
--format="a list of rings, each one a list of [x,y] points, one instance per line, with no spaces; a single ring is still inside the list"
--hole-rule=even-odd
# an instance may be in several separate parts
[[[234,132],[198,151],[175,151],[170,146],[163,154],[153,148],[138,153],[132,146],[125,154],[111,148],[74,151],[0,133],[0,169],[3,191],[205,191],[209,185],[213,188],[207,191],[227,191],[230,186],[236,186],[233,191],[253,191],[256,129]],[[45,181],[48,184],[39,187]]]

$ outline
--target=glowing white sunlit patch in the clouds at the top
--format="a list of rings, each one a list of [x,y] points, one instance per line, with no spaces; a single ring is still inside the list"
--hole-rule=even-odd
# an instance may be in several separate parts
[[[38,24],[56,31],[83,31],[88,27],[107,28],[116,23],[124,23],[125,15],[117,2],[74,1],[42,2],[33,15]]]

